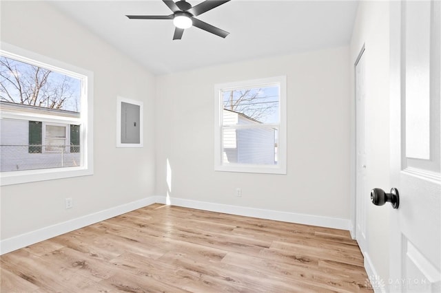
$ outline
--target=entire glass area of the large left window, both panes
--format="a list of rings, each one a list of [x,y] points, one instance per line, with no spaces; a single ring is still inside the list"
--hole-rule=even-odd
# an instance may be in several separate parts
[[[78,120],[83,80],[61,72],[0,56],[1,111]],[[12,119],[0,124],[1,172],[81,166],[79,125]]]

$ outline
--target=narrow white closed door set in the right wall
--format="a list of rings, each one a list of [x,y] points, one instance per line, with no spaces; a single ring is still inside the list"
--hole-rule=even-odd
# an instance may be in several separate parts
[[[366,70],[365,47],[356,61],[356,239],[360,250],[367,252],[367,205],[369,194],[366,186]]]

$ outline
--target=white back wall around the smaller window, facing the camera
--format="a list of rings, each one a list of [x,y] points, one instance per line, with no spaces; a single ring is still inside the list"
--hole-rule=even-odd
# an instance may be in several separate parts
[[[287,175],[214,171],[214,85],[280,75]],[[349,220],[349,88],[348,47],[158,76],[156,193]]]

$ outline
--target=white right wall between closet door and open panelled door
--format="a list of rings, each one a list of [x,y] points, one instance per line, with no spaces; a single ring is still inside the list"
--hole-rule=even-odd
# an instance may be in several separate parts
[[[354,65],[365,44],[366,119],[367,119],[367,186],[389,190],[389,3],[361,1],[350,47],[351,88],[354,93]],[[355,109],[355,98],[351,98]],[[355,124],[355,118],[353,123]],[[355,142],[355,131],[352,131]],[[366,195],[369,196],[369,195]],[[389,211],[390,205],[367,208],[367,255],[371,273],[389,278]],[[368,274],[369,274],[369,268]]]

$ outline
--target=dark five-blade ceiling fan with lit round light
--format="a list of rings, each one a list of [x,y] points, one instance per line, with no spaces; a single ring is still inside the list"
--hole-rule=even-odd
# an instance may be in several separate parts
[[[220,30],[220,28],[216,28],[213,25],[200,21],[199,19],[196,19],[196,17],[204,12],[207,12],[208,10],[212,10],[213,8],[222,5],[223,3],[227,3],[228,1],[230,0],[206,0],[193,7],[192,4],[185,0],[180,0],[176,3],[173,0],[163,0],[165,5],[172,10],[173,14],[126,15],[126,17],[129,19],[173,19],[173,23],[176,26],[173,35],[174,40],[180,40],[184,30],[186,28],[190,28],[192,25],[194,25],[196,28],[200,28],[201,30],[211,32],[212,34],[225,38],[229,32],[225,32],[225,30]]]

